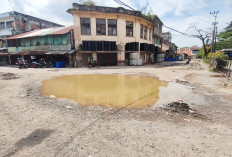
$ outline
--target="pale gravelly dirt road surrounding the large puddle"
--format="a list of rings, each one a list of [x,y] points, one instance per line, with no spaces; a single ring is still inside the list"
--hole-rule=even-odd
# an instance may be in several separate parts
[[[100,69],[0,67],[0,156],[232,156],[231,82],[193,62]],[[38,91],[44,79],[96,73],[187,84],[204,100],[186,102],[195,112],[182,114],[165,105],[142,110],[83,107]]]

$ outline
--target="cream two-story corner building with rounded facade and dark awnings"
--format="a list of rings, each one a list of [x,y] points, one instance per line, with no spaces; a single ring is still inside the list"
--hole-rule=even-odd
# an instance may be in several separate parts
[[[102,7],[73,3],[77,66],[93,57],[100,65],[128,64],[130,53],[143,63],[154,63],[161,53],[162,21],[122,7]]]

